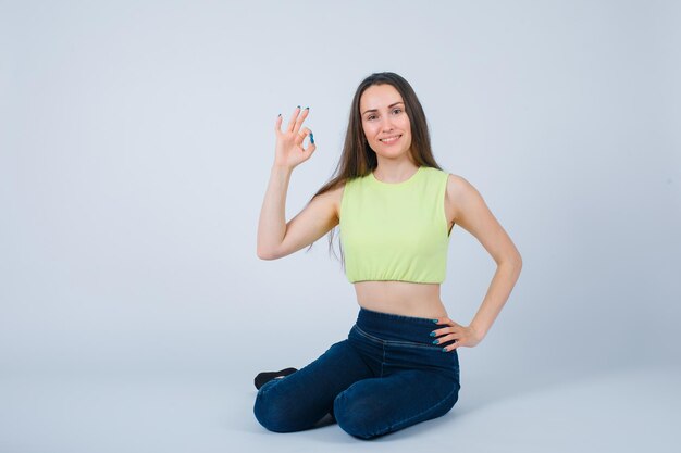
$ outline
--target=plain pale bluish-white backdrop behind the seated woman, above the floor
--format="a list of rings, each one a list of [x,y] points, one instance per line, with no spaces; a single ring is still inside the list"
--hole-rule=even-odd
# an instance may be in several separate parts
[[[680,12],[0,2],[0,376],[211,376],[250,401],[256,373],[345,338],[358,305],[327,238],[261,261],[257,224],[277,114],[309,105],[318,146],[294,171],[290,219],[335,168],[357,85],[381,71],[412,85],[437,162],[523,257],[487,337],[459,350],[461,399],[473,382],[493,401],[681,366]],[[494,262],[458,226],[448,256],[442,297],[468,324]],[[225,406],[261,433],[250,410]],[[0,446],[35,446],[25,420]]]

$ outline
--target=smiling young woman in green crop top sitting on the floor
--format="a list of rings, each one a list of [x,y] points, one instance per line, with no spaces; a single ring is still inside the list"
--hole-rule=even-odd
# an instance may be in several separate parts
[[[335,177],[285,221],[293,169],[317,146],[298,106],[282,130],[258,225],[258,256],[276,260],[339,225],[344,268],[360,305],[348,338],[297,370],[261,373],[255,403],[271,431],[309,429],[331,414],[345,431],[371,439],[439,417],[458,400],[457,348],[480,343],[522,267],[518,250],[463,177],[441,169],[411,86],[374,73],[357,88]],[[307,147],[302,146],[309,137]],[[455,224],[497,264],[469,325],[450,319],[439,298]]]

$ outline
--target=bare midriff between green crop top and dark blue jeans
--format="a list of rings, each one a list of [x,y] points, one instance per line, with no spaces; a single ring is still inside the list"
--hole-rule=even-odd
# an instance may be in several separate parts
[[[357,303],[374,312],[441,318],[447,311],[439,298],[439,284],[410,281],[356,281]]]

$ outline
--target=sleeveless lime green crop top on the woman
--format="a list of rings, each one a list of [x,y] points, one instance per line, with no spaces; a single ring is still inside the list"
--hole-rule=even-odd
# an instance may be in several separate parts
[[[382,183],[373,173],[346,181],[339,227],[350,282],[445,280],[448,176],[442,169],[421,166],[401,183]]]

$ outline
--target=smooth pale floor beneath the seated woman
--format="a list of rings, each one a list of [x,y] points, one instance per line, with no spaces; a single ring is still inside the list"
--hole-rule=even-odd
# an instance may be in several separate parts
[[[0,453],[679,452],[681,369],[462,376],[444,417],[370,441],[337,425],[272,433],[244,373],[0,379]],[[520,385],[519,385],[520,382]],[[446,449],[446,450],[438,450]]]

